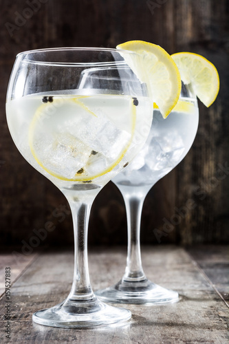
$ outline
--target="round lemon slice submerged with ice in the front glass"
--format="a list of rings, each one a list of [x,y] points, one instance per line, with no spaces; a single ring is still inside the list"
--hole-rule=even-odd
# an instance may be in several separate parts
[[[132,98],[113,97],[56,96],[53,103],[40,105],[29,129],[36,162],[58,179],[77,182],[91,182],[114,169],[131,144],[136,107]],[[129,118],[122,126],[116,116],[113,122],[109,118],[114,101]]]

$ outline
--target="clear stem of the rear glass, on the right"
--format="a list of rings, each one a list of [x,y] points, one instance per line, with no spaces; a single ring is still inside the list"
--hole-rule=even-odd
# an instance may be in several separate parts
[[[127,267],[122,281],[142,281],[146,279],[142,269],[140,250],[140,224],[142,206],[149,189],[145,193],[125,194],[124,202],[127,211],[128,249]]]

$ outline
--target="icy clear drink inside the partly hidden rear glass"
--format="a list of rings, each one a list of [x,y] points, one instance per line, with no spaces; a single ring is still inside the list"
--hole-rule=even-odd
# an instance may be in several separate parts
[[[133,162],[113,178],[117,185],[152,185],[182,161],[197,133],[199,113],[197,100],[180,98],[188,111],[172,111],[166,119],[153,111],[149,138]]]

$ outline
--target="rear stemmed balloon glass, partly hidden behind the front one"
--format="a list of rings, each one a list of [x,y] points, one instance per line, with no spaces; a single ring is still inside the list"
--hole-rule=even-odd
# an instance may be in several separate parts
[[[162,118],[154,109],[151,132],[133,162],[113,178],[124,198],[127,211],[127,267],[114,286],[98,290],[102,301],[160,304],[178,301],[173,290],[162,288],[144,275],[140,254],[140,222],[144,199],[151,187],[170,172],[188,153],[197,133],[199,111],[191,85],[182,83],[182,92],[171,114]]]

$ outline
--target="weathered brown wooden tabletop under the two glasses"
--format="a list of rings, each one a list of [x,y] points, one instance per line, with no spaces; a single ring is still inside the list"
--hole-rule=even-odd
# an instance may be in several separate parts
[[[15,259],[12,251],[0,256],[0,343],[228,343],[229,250],[227,246],[142,247],[142,263],[149,279],[177,290],[180,301],[171,305],[124,305],[132,319],[122,327],[74,330],[32,323],[32,313],[55,305],[72,285],[73,252],[39,252]],[[126,248],[89,248],[89,272],[94,290],[120,279]],[[6,267],[11,270],[10,338],[6,338],[8,301]],[[121,306],[122,307],[122,306]]]

